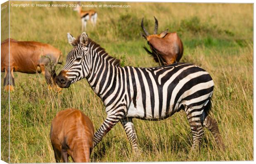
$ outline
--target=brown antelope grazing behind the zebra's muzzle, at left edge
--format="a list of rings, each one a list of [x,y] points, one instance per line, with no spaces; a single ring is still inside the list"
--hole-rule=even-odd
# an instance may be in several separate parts
[[[53,72],[52,75],[45,68],[50,62],[55,66],[57,63],[62,63],[62,52],[50,44],[6,39],[1,43],[1,72],[5,72],[5,90],[13,90],[13,72],[27,74],[42,72],[47,84],[52,85],[52,78],[56,74]]]

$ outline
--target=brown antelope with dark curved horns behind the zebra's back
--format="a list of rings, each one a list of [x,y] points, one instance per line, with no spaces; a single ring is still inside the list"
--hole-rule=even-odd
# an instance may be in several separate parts
[[[176,32],[168,32],[168,29],[166,29],[164,32],[157,34],[158,21],[156,18],[153,35],[149,35],[145,29],[143,25],[143,18],[141,21],[141,28],[145,34],[140,34],[147,40],[152,52],[150,52],[146,47],[143,48],[147,53],[153,56],[155,62],[159,62],[159,65],[171,65],[180,61],[180,58],[183,55],[183,44]]]

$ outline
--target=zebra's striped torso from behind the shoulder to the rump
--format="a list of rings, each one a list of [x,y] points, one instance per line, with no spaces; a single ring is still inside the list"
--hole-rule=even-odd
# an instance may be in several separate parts
[[[207,104],[213,91],[209,73],[190,63],[123,70],[127,72],[127,117],[158,120],[190,108],[198,108],[201,114],[199,107]]]

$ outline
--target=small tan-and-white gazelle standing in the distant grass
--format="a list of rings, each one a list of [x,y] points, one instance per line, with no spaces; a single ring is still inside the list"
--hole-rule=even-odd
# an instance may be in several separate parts
[[[81,7],[81,3],[78,2],[78,6],[73,9],[73,11],[77,11],[82,22],[82,31],[86,30],[87,21],[91,20],[93,27],[96,25],[97,21],[97,12],[93,9],[83,11]]]

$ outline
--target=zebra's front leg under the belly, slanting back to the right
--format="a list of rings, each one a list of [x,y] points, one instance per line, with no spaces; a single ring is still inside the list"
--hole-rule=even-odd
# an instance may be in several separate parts
[[[137,144],[137,134],[133,125],[132,118],[124,118],[121,120],[124,130],[126,131],[126,135],[132,144],[133,150],[138,150],[138,144]]]

